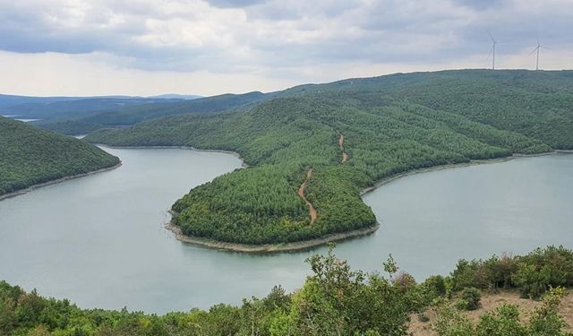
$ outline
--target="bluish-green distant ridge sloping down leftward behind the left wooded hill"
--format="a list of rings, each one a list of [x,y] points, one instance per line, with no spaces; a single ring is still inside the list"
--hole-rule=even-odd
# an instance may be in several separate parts
[[[98,111],[97,113],[90,113],[81,117],[59,116],[34,123],[34,125],[60,134],[88,134],[100,128],[133,125],[162,116],[244,110],[271,97],[272,94],[249,92],[167,102],[165,101],[167,99],[158,99],[158,101],[150,104]]]

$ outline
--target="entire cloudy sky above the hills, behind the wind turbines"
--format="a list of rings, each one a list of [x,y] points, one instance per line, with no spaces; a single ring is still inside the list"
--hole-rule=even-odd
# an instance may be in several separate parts
[[[0,93],[213,95],[491,66],[571,69],[573,0],[0,0]]]

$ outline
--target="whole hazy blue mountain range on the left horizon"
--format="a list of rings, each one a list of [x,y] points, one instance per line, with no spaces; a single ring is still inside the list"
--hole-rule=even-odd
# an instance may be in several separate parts
[[[222,94],[218,96],[187,99],[172,98],[178,95],[163,95],[141,98],[81,98],[81,99],[38,99],[28,102],[11,100],[12,105],[4,103],[0,115],[19,118],[41,119],[31,123],[60,134],[88,134],[101,128],[123,127],[144,120],[162,116],[184,114],[218,113],[223,111],[244,110],[274,97],[273,93],[249,92],[244,94]],[[2,97],[0,97],[2,99]]]

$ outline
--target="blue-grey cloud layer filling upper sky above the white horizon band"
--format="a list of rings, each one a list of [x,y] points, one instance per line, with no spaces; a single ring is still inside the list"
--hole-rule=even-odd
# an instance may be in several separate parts
[[[485,57],[490,47],[488,30],[500,41],[510,42],[500,46],[500,53],[533,46],[535,34],[549,46],[572,47],[573,9],[559,2],[535,11],[503,0],[440,0],[432,5],[415,0],[209,3],[210,13],[194,12],[194,7],[179,10],[185,2],[175,2],[173,7],[153,1],[94,3],[80,19],[73,11],[45,2],[0,4],[0,49],[106,53],[117,66],[150,71],[271,72],[277,67],[348,62]],[[244,19],[236,13],[244,13]],[[73,25],[73,20],[80,23]],[[202,39],[209,33],[202,20],[210,20],[205,27],[222,30],[226,37],[220,39],[225,43],[217,43],[218,37]],[[196,26],[196,32],[187,31]],[[186,38],[198,41],[188,43]]]

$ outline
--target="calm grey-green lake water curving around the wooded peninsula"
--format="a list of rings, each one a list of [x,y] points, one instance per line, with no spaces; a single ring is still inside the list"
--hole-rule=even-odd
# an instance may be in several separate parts
[[[239,304],[275,284],[303,283],[312,252],[230,253],[184,245],[163,228],[192,186],[241,166],[232,155],[106,149],[124,165],[0,202],[0,279],[82,307],[166,313]],[[389,253],[417,279],[458,258],[572,247],[573,155],[558,154],[400,178],[364,196],[382,227],[338,244],[355,268]]]

